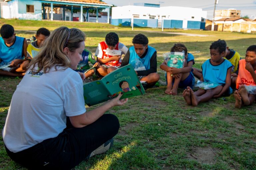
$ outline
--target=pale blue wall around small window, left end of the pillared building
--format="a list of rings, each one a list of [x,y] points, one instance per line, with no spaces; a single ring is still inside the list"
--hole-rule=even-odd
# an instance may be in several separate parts
[[[18,0],[18,18],[21,20],[42,20],[42,3],[33,0]],[[34,5],[34,13],[27,12],[27,5]]]

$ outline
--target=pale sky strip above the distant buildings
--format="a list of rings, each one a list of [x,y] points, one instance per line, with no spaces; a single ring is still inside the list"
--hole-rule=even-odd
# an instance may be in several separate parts
[[[202,8],[207,11],[207,19],[213,18],[215,0],[103,0],[107,4],[115,6],[133,5],[134,3],[160,4],[163,6],[180,6]],[[251,19],[256,17],[256,0],[219,0],[216,10],[234,8],[241,10],[241,16],[248,16]]]

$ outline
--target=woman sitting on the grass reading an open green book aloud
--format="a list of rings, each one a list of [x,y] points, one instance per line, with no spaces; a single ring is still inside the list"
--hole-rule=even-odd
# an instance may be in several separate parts
[[[10,158],[29,169],[71,169],[118,132],[117,117],[103,114],[127,102],[122,94],[86,112],[85,77],[74,71],[84,41],[78,29],[54,30],[13,94],[3,140]]]

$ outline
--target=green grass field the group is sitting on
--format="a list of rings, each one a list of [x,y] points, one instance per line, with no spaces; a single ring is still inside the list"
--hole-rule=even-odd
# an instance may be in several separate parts
[[[234,97],[221,97],[188,106],[182,89],[177,96],[164,93],[164,71],[159,66],[163,54],[174,43],[184,43],[195,56],[195,67],[200,68],[209,58],[211,42],[223,39],[242,58],[246,48],[256,43],[256,34],[211,32],[199,30],[164,30],[116,27],[109,24],[80,22],[20,21],[0,19],[0,25],[11,24],[18,36],[30,38],[40,27],[50,31],[60,27],[75,27],[87,35],[86,47],[93,53],[108,32],[116,32],[120,42],[132,46],[132,38],[145,34],[149,45],[157,50],[160,87],[147,89],[146,94],[129,98],[128,103],[114,107],[107,113],[120,121],[114,147],[96,155],[75,169],[256,169],[256,104],[234,108]],[[179,35],[177,33],[202,36]],[[11,97],[21,78],[0,76],[0,129],[5,123]],[[87,110],[93,109],[87,107]],[[2,133],[1,133],[2,134]],[[0,137],[0,169],[25,169],[12,161]]]

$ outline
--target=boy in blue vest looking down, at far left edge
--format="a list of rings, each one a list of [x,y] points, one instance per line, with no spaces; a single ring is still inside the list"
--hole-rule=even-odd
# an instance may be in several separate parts
[[[9,24],[1,27],[0,34],[0,75],[24,76],[29,64],[28,60],[24,60],[24,56],[27,56],[27,40],[16,36],[13,26]]]

